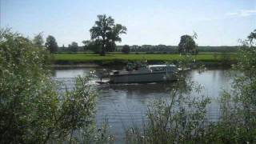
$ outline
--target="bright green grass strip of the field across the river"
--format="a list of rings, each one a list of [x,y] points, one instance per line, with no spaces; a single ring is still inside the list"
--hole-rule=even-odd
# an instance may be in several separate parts
[[[146,59],[148,62],[164,62],[179,60],[183,55],[180,54],[106,54],[100,56],[98,54],[54,54],[54,62],[56,63],[82,63],[82,62],[127,62],[141,61]],[[234,61],[235,54],[198,54],[193,56],[196,61],[200,62],[222,62]]]

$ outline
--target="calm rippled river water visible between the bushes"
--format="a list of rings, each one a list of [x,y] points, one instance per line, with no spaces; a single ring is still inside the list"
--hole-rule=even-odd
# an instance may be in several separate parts
[[[74,84],[74,78],[79,74],[88,74],[92,68],[54,70],[54,78],[68,87]],[[203,94],[213,99],[208,107],[208,117],[212,121],[218,119],[219,108],[215,102],[222,90],[230,90],[229,70],[206,70],[198,73],[191,70],[189,76],[204,86]],[[98,85],[94,79],[92,83],[100,91],[97,104],[97,122],[104,122],[107,118],[110,131],[115,135],[116,142],[122,142],[124,131],[130,126],[142,126],[149,102],[156,98],[168,98],[172,83],[149,84],[103,84]]]

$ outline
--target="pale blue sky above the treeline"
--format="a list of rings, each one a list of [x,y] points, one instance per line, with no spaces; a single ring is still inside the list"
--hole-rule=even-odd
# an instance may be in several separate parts
[[[177,46],[196,32],[199,46],[237,46],[256,29],[256,0],[0,0],[0,8],[1,28],[50,34],[58,46],[89,40],[98,14],[126,26],[118,45]]]

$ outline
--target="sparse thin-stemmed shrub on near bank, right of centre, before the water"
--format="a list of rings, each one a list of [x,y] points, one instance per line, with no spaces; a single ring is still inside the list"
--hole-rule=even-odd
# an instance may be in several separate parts
[[[187,68],[192,58],[184,58],[180,68]],[[188,62],[190,61],[190,62]],[[206,105],[210,98],[200,94],[202,86],[178,74],[178,82],[172,85],[170,98],[153,101],[147,110],[144,129],[131,128],[126,132],[127,143],[200,143],[204,134]]]

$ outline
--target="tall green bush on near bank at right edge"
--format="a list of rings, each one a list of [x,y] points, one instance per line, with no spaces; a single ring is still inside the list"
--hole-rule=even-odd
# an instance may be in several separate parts
[[[254,39],[248,37],[248,40],[242,42],[238,63],[233,66],[238,74],[233,75],[232,90],[224,91],[220,99],[222,118],[207,135],[219,143],[256,142],[256,47],[252,43]]]

